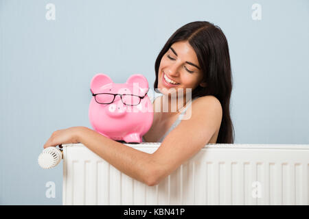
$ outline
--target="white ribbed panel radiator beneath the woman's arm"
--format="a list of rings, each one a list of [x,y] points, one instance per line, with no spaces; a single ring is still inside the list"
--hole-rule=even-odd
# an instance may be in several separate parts
[[[160,143],[126,144],[153,153]],[[308,205],[309,145],[207,144],[159,185],[63,146],[63,205]]]

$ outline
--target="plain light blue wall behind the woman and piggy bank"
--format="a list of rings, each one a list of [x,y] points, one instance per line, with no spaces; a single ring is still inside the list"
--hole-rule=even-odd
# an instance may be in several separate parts
[[[62,164],[38,166],[57,129],[91,127],[96,73],[155,81],[155,60],[182,25],[210,21],[227,36],[235,143],[309,144],[309,1],[0,1],[2,205],[61,205]],[[56,20],[47,21],[47,3]],[[253,21],[253,3],[262,20]],[[45,183],[56,183],[46,198]]]

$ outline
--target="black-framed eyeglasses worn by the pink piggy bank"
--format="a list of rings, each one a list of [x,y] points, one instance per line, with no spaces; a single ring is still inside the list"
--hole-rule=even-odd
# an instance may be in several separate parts
[[[149,91],[149,88],[145,94],[147,95]],[[122,99],[122,103],[125,105],[139,105],[141,103],[141,99],[144,99],[145,96],[137,96],[134,94],[111,94],[111,93],[98,93],[98,94],[93,94],[92,90],[90,89],[90,92],[92,96],[95,97],[95,101],[100,104],[111,104],[114,102],[115,97],[117,95],[120,96]]]

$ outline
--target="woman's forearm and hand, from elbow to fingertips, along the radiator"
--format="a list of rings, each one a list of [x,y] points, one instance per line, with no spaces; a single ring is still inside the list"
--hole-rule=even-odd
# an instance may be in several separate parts
[[[54,131],[44,149],[59,144],[82,143],[126,175],[147,185],[154,179],[152,155],[116,142],[87,127],[70,127]]]

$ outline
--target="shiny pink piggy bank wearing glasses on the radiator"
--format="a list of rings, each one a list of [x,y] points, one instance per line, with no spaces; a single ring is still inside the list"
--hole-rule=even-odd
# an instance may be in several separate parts
[[[131,75],[126,83],[113,83],[104,74],[91,80],[89,120],[95,131],[117,141],[142,142],[153,120],[152,103],[144,75]]]

